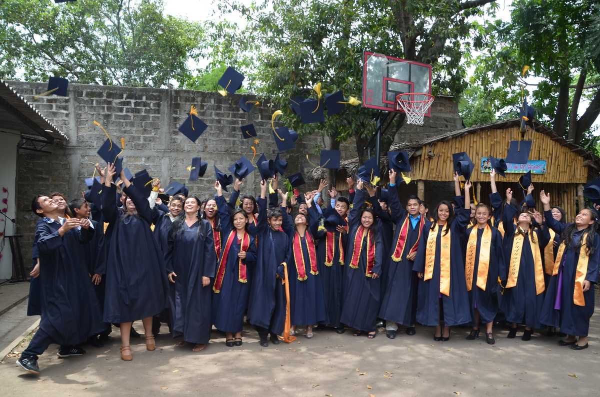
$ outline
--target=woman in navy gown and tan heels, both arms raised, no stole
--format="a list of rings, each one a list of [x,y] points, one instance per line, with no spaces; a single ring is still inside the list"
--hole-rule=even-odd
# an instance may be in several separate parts
[[[111,183],[115,166],[109,164],[102,190],[102,213],[109,223],[110,242],[106,261],[104,321],[121,329],[121,358],[133,359],[130,348],[131,323],[142,320],[146,349],[156,348],[152,316],[167,305],[168,280],[163,254],[152,234],[148,199],[131,185],[124,172],[124,206],[117,207],[116,187]],[[108,233],[107,233],[108,234]],[[105,240],[106,241],[106,240]]]

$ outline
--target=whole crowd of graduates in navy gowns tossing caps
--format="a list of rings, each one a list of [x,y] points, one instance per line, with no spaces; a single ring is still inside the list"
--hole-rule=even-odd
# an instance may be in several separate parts
[[[17,361],[31,373],[50,344],[59,357],[77,356],[85,341],[101,346],[112,324],[121,358],[132,360],[139,320],[147,350],[161,322],[179,346],[201,351],[213,327],[227,347],[241,346],[245,321],[263,347],[294,340],[299,328],[306,338],[333,327],[373,339],[379,321],[392,339],[399,326],[415,335],[420,323],[435,327],[436,341],[448,341],[452,326],[470,327],[470,340],[485,327],[494,344],[500,320],[508,338],[522,324],[524,341],[548,327],[548,336],[562,335],[559,345],[588,347],[598,212],[581,209],[566,223],[541,191],[539,213],[530,182],[518,203],[511,189],[504,198],[496,191],[492,170],[489,204],[473,203],[470,182],[461,194],[455,173],[454,199],[428,210],[416,196],[401,203],[393,168],[386,189],[368,173],[347,179],[349,197],[326,181],[287,194],[275,174],[257,198],[241,196],[236,179],[229,200],[219,178],[201,200],[183,185],[166,195],[147,174],[131,181],[114,164],[98,172],[68,205],[60,193],[32,201],[40,219],[29,314],[41,322]]]

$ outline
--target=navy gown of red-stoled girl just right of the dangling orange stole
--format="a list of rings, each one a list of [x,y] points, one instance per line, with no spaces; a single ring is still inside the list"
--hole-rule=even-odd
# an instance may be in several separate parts
[[[313,206],[315,205],[316,204],[313,203]],[[284,207],[281,207],[281,210],[285,211]],[[308,255],[308,242],[306,239],[306,235],[310,233],[311,237],[313,237],[313,242],[316,242],[314,235],[319,226],[319,218],[318,216],[312,218],[313,221],[310,223],[310,228],[307,228],[303,237],[299,237],[302,255],[304,256],[305,261],[304,270],[307,276],[307,279],[305,280],[298,279],[296,257],[293,254],[293,240],[296,235],[296,228],[290,224],[289,218],[286,216],[285,212],[283,219],[282,228],[287,233],[290,240],[290,263],[289,266],[287,266],[287,277],[290,282],[290,321],[292,325],[295,326],[312,325],[319,323],[319,321],[325,321],[327,312],[325,310],[321,273],[319,272],[314,275],[310,272],[310,257]],[[316,257],[316,247],[314,249]],[[318,270],[319,268],[317,266],[317,271]]]

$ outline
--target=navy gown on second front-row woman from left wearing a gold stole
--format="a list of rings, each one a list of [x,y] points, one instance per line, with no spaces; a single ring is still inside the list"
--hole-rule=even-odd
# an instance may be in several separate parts
[[[464,246],[469,242],[469,236],[473,227],[467,229],[463,236]],[[498,277],[504,279],[506,276],[506,262],[504,260],[504,252],[502,249],[502,234],[497,228],[491,228],[491,245],[490,245],[490,263],[488,265],[488,275],[485,281],[485,290],[482,290],[477,285],[477,272],[479,269],[479,256],[481,254],[481,238],[484,229],[478,228],[477,242],[475,248],[475,266],[473,266],[473,281],[469,292],[469,307],[471,309],[471,317],[475,320],[475,308],[479,311],[479,318],[482,323],[489,323],[494,320],[500,305],[500,286],[498,285]],[[479,325],[473,322],[472,326]]]

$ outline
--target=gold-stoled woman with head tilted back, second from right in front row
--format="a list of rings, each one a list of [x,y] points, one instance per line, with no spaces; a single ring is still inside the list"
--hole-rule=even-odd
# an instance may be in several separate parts
[[[506,201],[502,214],[504,224],[504,257],[507,276],[502,306],[506,320],[512,323],[508,338],[517,335],[517,324],[525,324],[521,339],[529,341],[533,328],[540,328],[540,315],[544,303],[544,267],[542,249],[550,240],[548,228],[542,225],[542,215],[535,212],[539,227],[532,228],[532,214],[519,211],[511,203],[512,190],[506,190]],[[518,216],[517,216],[518,214]],[[517,216],[517,224],[512,223]]]

